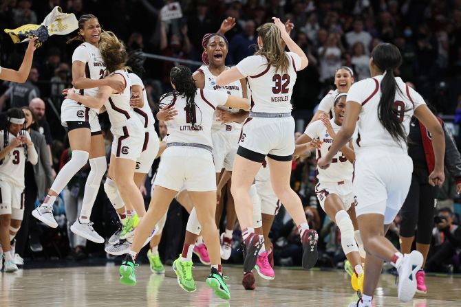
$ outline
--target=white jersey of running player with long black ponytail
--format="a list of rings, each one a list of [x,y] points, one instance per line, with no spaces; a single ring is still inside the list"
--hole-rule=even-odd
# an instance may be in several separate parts
[[[383,76],[367,78],[352,84],[347,93],[347,103],[362,105],[357,123],[358,133],[354,138],[354,150],[357,155],[367,149],[400,150],[407,155],[407,144],[403,140],[393,139],[378,119],[378,105],[381,96],[380,82]],[[409,134],[411,117],[418,106],[425,104],[421,95],[408,87],[401,78],[395,78],[398,89],[394,99],[394,109],[398,112],[400,122],[403,122],[406,135]]]

